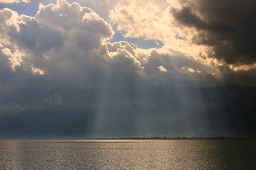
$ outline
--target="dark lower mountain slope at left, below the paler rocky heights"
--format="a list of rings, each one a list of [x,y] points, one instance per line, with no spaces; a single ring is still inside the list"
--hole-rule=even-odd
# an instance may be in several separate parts
[[[84,112],[25,110],[0,116],[0,136],[137,136],[145,133],[152,120],[135,105],[107,105]]]

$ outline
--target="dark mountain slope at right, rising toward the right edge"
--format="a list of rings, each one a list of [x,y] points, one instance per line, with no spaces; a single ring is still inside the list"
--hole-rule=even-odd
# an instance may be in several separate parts
[[[227,100],[207,113],[194,112],[152,127],[149,133],[201,136],[256,135],[255,96]]]

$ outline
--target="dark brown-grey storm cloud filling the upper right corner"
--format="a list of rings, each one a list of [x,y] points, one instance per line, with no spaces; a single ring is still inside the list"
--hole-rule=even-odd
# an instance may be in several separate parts
[[[256,62],[256,1],[197,1],[170,10],[183,26],[195,27],[196,44],[213,46],[214,57],[227,64]]]

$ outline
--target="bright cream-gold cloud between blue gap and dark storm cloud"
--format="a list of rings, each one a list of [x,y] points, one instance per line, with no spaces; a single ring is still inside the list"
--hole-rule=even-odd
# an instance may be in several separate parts
[[[109,17],[112,22],[118,24],[118,31],[123,32],[125,37],[160,40],[164,44],[165,53],[180,51],[188,58],[200,60],[209,66],[209,60],[212,59],[201,59],[200,54],[208,56],[210,51],[213,51],[212,47],[193,42],[194,34],[198,31],[180,26],[170,13],[174,9],[171,6],[173,2],[165,4],[165,8],[161,9],[157,4],[149,3],[143,6],[140,3],[141,1],[129,1],[128,5],[117,4],[114,10],[110,11]],[[197,17],[195,19],[199,20]],[[218,60],[213,61],[219,64]]]

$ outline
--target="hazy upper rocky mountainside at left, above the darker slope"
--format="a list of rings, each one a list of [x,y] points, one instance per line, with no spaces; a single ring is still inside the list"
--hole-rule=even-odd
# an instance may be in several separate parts
[[[128,95],[123,88],[19,88],[1,94],[0,115],[25,110],[86,111]]]

